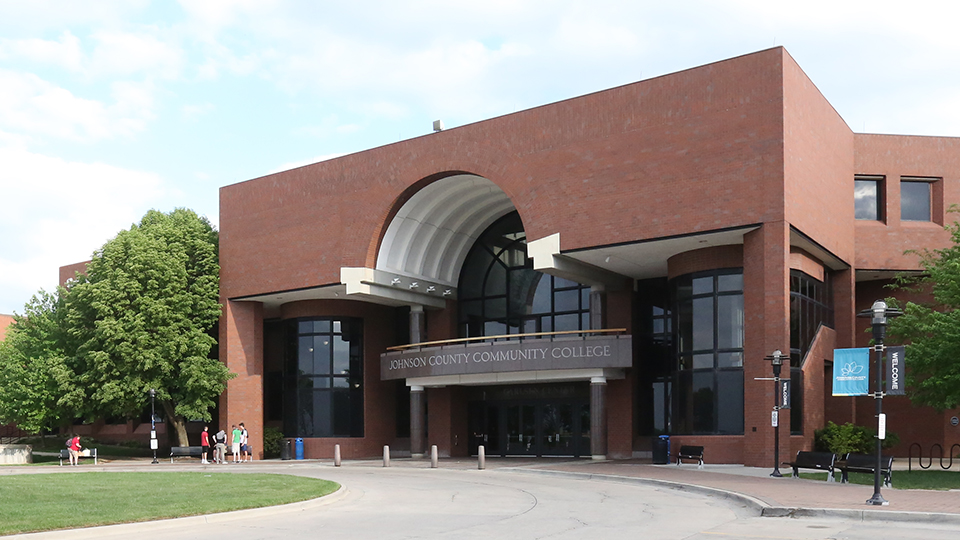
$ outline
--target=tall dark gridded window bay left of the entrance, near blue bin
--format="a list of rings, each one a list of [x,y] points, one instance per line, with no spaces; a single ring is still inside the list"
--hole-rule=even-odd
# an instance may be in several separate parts
[[[285,369],[284,433],[363,436],[363,321],[297,319]],[[295,434],[295,435],[294,435]]]

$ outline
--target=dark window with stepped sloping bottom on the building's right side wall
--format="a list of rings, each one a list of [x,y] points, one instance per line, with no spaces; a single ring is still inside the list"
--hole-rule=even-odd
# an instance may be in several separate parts
[[[824,281],[790,271],[790,432],[803,434],[802,363],[820,325],[833,328],[830,275]]]

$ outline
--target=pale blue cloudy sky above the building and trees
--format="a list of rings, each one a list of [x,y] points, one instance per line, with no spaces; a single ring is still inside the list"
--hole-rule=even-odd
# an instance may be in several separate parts
[[[960,136],[960,2],[0,0],[0,313],[148,210],[784,46],[855,132]]]

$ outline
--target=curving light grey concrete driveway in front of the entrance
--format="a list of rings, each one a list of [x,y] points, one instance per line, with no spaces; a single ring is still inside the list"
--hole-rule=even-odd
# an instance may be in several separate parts
[[[71,531],[69,536],[60,531],[22,537],[71,540],[119,537],[953,540],[958,537],[956,528],[939,528],[935,524],[760,518],[756,517],[755,509],[734,499],[632,480],[551,476],[517,469],[333,468],[306,463],[224,469],[234,474],[283,472],[328,478],[340,482],[346,489],[325,503],[100,527]],[[207,470],[211,470],[211,474],[225,473],[216,467]]]

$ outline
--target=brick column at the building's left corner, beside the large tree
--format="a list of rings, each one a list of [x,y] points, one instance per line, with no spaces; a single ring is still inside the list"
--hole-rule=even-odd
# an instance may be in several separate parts
[[[237,376],[220,396],[220,428],[243,422],[255,459],[263,458],[263,304],[222,300],[220,360]]]

